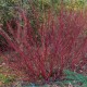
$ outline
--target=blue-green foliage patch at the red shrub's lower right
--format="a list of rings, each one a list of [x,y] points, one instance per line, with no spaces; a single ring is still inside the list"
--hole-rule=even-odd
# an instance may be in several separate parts
[[[64,70],[64,74],[65,76],[65,80],[64,83],[82,83],[83,85],[85,85],[84,87],[87,87],[87,76],[84,76],[82,74],[78,74],[76,72],[71,72],[69,70]]]

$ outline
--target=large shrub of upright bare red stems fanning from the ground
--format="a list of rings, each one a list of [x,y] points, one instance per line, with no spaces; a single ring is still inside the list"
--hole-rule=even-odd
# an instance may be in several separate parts
[[[13,49],[5,54],[10,67],[24,71],[30,80],[54,80],[65,69],[83,70],[87,63],[87,15],[84,12],[61,11],[58,16],[49,12],[46,22],[37,21],[37,34],[24,11],[20,18],[23,25],[21,20],[14,20],[7,23],[8,32],[0,27],[0,35]]]

